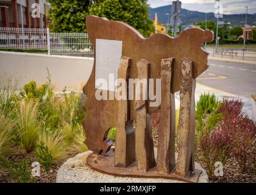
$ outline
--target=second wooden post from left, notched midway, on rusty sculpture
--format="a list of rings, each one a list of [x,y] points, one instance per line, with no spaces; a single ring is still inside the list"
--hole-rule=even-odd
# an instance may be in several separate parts
[[[149,79],[150,63],[147,60],[139,60],[137,62],[138,79]],[[148,93],[148,82],[146,83]],[[140,86],[139,86],[140,85]],[[148,171],[148,169],[155,166],[154,157],[154,144],[152,139],[152,130],[150,116],[147,115],[147,103],[143,99],[143,86],[140,82],[136,83],[135,94],[140,90],[140,99],[135,99],[136,110],[136,127],[135,127],[135,151],[137,169],[140,171]],[[144,94],[144,97],[148,97],[148,94]]]

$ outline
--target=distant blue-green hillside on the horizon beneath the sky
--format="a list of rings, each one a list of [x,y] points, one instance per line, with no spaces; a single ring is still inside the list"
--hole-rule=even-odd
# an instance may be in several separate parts
[[[152,20],[155,19],[155,12],[158,16],[158,23],[166,24],[168,23],[168,15],[166,13],[171,14],[171,5],[166,5],[157,8],[149,8],[149,16]],[[181,20],[182,25],[187,24],[196,24],[201,21],[205,21],[205,13],[190,11],[187,9],[182,9],[181,11]],[[207,13],[207,19],[216,22],[216,18],[214,13]],[[220,21],[229,21],[230,26],[243,26],[245,19],[245,14],[232,14],[232,15],[223,15],[223,18],[219,19]],[[256,14],[248,14],[247,15],[247,24],[256,26]]]

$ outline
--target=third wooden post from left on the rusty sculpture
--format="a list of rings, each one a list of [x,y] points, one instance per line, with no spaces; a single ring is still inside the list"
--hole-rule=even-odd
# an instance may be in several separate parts
[[[157,171],[175,167],[175,97],[171,93],[174,58],[161,60],[161,113],[157,146]]]

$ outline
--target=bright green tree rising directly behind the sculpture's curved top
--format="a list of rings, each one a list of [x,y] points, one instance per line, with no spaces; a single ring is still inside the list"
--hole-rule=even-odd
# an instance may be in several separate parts
[[[123,21],[137,29],[144,37],[154,32],[146,0],[99,0],[89,7],[90,15]]]

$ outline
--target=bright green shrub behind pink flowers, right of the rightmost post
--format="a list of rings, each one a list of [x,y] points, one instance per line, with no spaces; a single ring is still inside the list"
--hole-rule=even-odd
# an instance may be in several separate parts
[[[196,102],[196,119],[202,119],[205,115],[212,113],[219,106],[219,101],[214,94],[201,94]]]

